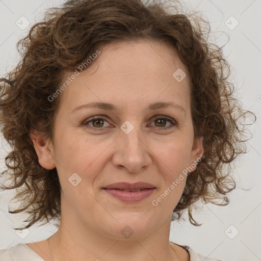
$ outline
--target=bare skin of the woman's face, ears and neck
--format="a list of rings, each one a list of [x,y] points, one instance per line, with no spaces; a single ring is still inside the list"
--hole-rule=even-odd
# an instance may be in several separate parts
[[[185,249],[169,242],[171,214],[186,176],[157,206],[151,203],[203,154],[201,140],[194,138],[189,72],[165,42],[143,39],[100,50],[96,61],[60,94],[54,141],[32,132],[41,166],[57,168],[62,215],[49,238],[51,253],[46,240],[28,246],[44,260],[189,260]],[[178,68],[187,74],[181,82],[172,76]],[[71,74],[66,72],[64,80]],[[96,101],[113,103],[118,111],[71,113]],[[159,101],[175,102],[186,114],[174,107],[147,109]],[[162,118],[160,123],[156,115],[172,118],[176,125]],[[89,121],[93,116],[105,120]],[[120,128],[126,120],[134,127],[129,134]],[[72,173],[82,178],[75,187],[68,181]],[[120,181],[149,182],[156,190],[136,203],[102,190]],[[125,226],[133,231],[129,238],[121,233]]]

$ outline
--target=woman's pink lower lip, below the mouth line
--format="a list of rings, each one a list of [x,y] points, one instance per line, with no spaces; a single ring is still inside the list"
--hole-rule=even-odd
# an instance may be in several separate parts
[[[149,197],[156,188],[145,189],[140,191],[122,191],[116,189],[104,189],[106,192],[110,193],[112,196],[120,199],[124,202],[139,202],[147,197]]]

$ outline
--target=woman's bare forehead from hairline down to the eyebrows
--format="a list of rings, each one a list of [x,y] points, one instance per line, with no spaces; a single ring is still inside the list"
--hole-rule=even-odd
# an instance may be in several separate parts
[[[63,91],[63,100],[77,99],[78,103],[89,100],[117,100],[151,103],[158,98],[181,99],[189,96],[188,70],[180,61],[176,51],[166,42],[135,40],[111,43],[103,46],[100,55],[91,66],[80,71]],[[181,74],[182,75],[181,75]],[[64,81],[72,72],[64,73]],[[182,81],[176,78],[180,74]],[[75,105],[75,104],[74,104]],[[73,104],[71,104],[73,106]]]

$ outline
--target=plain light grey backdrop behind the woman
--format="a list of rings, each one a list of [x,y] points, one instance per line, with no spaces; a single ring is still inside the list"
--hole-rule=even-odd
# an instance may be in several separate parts
[[[19,60],[17,41],[41,19],[46,8],[60,6],[63,2],[0,0],[1,75],[12,69]],[[188,221],[172,223],[170,240],[223,261],[261,260],[261,135],[258,135],[261,127],[261,1],[203,0],[186,1],[186,5],[202,11],[211,22],[211,29],[215,32],[212,36],[213,43],[223,45],[228,41],[224,47],[224,55],[231,64],[232,82],[239,89],[238,98],[243,102],[245,109],[253,111],[257,121],[249,127],[253,138],[248,143],[248,153],[235,163],[232,173],[238,181],[238,188],[230,194],[229,205],[203,206],[199,213],[195,213],[196,220],[203,223],[201,227],[194,227]],[[24,19],[20,18],[21,16],[30,22],[23,30],[16,24],[18,21],[25,25],[26,20],[21,22],[21,19]],[[230,23],[229,26],[234,27],[236,24],[236,20],[231,16],[239,22],[233,30],[226,25]],[[251,121],[251,117],[246,120]],[[3,171],[4,159],[9,148],[3,138],[0,141],[0,167]],[[12,191],[0,192],[0,249],[15,246],[17,243],[40,241],[56,231],[54,226],[48,224],[41,227],[35,225],[17,234],[12,227],[18,226],[24,216],[18,217],[8,213],[8,202],[12,195]]]

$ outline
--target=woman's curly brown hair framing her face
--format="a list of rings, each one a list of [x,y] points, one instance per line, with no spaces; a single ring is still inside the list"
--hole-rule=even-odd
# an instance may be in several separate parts
[[[187,210],[190,223],[198,226],[192,216],[197,201],[228,204],[227,193],[236,187],[231,163],[246,151],[242,121],[246,111],[228,82],[230,69],[223,46],[208,41],[209,22],[200,13],[186,14],[183,9],[179,1],[71,0],[49,9],[18,42],[22,59],[0,79],[1,130],[12,148],[5,158],[8,169],[2,172],[12,184],[2,189],[18,189],[15,198],[22,205],[9,212],[27,212],[25,227],[61,218],[57,169],[39,164],[30,131],[37,129],[53,140],[61,95],[53,101],[48,97],[61,85],[64,71],[74,71],[97,47],[116,41],[165,41],[190,74],[194,134],[203,137],[204,157],[188,175],[172,221]]]

